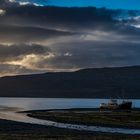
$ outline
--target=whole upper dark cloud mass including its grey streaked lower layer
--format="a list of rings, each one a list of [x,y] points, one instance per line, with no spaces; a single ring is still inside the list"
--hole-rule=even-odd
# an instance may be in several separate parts
[[[83,35],[94,31],[105,31],[139,39],[140,32],[128,26],[127,20],[119,21],[114,18],[121,13],[123,13],[121,10],[94,7],[14,6],[7,8],[6,14],[0,16],[0,35],[4,41],[32,42],[70,35],[71,32]]]

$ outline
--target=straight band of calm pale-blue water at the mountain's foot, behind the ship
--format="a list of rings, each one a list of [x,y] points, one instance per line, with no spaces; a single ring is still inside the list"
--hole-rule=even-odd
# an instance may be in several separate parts
[[[108,99],[64,99],[64,98],[0,98],[0,106],[18,107],[22,110],[97,108]],[[140,107],[140,100],[132,100],[134,107]]]

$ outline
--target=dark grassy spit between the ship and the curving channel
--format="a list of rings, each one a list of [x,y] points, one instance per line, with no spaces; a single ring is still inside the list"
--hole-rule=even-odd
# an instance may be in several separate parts
[[[35,111],[29,113],[28,116],[63,123],[140,128],[140,111],[88,113],[83,111]]]

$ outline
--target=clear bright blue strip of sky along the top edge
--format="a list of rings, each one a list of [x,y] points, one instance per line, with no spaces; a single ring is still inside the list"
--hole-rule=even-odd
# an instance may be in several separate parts
[[[27,0],[23,0],[27,1]],[[139,9],[139,0],[30,0],[30,2],[38,3],[41,5],[55,5],[55,6],[95,6],[95,7],[107,7],[113,9]]]

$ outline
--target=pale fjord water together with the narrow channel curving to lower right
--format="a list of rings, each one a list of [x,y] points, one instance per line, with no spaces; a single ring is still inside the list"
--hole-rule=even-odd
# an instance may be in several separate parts
[[[135,107],[140,107],[139,101],[133,100]],[[101,102],[108,102],[108,99],[0,98],[0,119],[82,131],[140,134],[140,129],[59,123],[31,118],[26,113],[17,113],[17,111],[38,109],[96,108]]]

